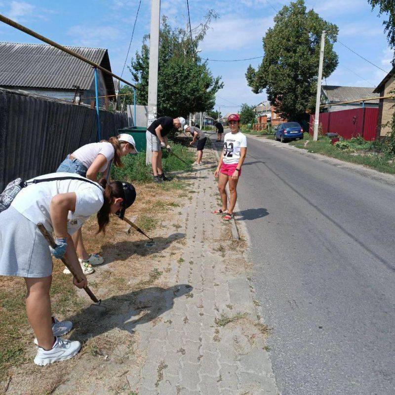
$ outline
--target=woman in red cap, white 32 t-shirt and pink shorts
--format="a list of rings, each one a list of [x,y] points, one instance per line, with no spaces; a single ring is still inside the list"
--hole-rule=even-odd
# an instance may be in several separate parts
[[[247,153],[247,139],[240,132],[240,117],[238,114],[232,114],[228,117],[228,124],[231,132],[224,137],[224,151],[215,170],[214,176],[218,178],[218,190],[221,195],[222,207],[215,210],[214,214],[223,215],[224,221],[234,218],[233,210],[237,200],[237,182],[241,175],[241,166]],[[229,191],[231,196],[226,195],[226,184],[229,182]]]

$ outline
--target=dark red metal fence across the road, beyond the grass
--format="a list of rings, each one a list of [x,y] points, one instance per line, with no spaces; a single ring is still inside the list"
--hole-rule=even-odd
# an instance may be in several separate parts
[[[338,133],[345,139],[362,136],[365,140],[376,138],[378,108],[364,107],[352,110],[319,114],[323,133]],[[309,133],[313,135],[314,115],[310,116]]]

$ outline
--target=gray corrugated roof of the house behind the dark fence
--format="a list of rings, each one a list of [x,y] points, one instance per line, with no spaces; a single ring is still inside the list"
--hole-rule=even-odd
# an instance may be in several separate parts
[[[111,71],[107,49],[66,48]],[[51,45],[0,42],[0,86],[89,89],[93,78],[91,65]],[[115,94],[113,78],[104,73],[103,78],[108,94]]]

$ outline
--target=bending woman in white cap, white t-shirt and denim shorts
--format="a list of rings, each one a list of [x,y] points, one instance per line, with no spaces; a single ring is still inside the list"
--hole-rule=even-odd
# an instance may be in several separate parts
[[[102,140],[99,143],[83,145],[73,154],[68,155],[56,171],[77,173],[96,182],[100,173],[108,178],[112,161],[115,166],[123,167],[120,158],[127,154],[137,153],[133,137],[122,133],[117,137],[110,137],[109,141]],[[85,275],[94,273],[92,266],[101,265],[104,262],[103,257],[99,254],[87,253],[82,241],[81,228],[73,235],[73,241],[83,273]],[[65,268],[63,273],[70,274],[70,271]]]

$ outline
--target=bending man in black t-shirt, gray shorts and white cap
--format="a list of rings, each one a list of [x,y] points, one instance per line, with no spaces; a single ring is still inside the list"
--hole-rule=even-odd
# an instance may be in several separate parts
[[[167,141],[167,134],[175,127],[177,129],[183,128],[185,125],[185,118],[171,118],[160,117],[155,119],[154,122],[148,127],[146,132],[147,138],[147,151],[152,153],[152,171],[154,172],[154,181],[161,183],[169,181],[164,175],[162,170],[162,148],[166,147],[170,152],[171,148]]]

